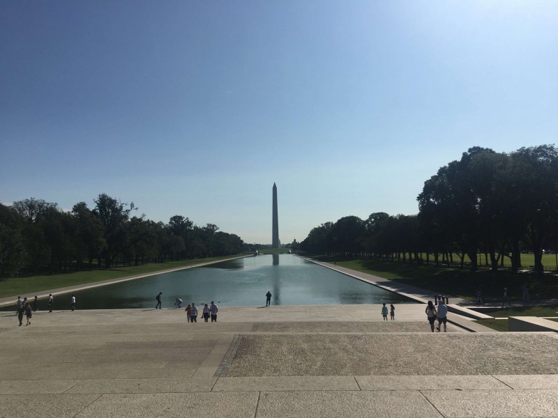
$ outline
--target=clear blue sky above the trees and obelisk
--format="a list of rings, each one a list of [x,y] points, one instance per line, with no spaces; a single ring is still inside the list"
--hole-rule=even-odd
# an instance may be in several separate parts
[[[245,242],[412,215],[558,134],[558,1],[0,0],[0,202],[100,193]]]

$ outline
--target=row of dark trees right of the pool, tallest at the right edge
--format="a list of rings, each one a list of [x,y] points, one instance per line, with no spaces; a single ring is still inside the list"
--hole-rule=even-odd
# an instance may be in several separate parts
[[[372,213],[326,222],[301,242],[303,251],[379,258],[409,258],[477,269],[485,254],[492,270],[504,257],[513,270],[520,254],[532,251],[536,272],[543,272],[543,249],[558,247],[558,150],[553,145],[496,153],[470,148],[460,160],[440,168],[418,195],[418,215]]]

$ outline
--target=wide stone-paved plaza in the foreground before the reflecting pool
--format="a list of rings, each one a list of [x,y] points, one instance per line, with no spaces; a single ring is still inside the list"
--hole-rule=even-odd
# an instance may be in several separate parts
[[[432,334],[424,305],[379,312],[0,312],[0,417],[558,417],[557,334]]]

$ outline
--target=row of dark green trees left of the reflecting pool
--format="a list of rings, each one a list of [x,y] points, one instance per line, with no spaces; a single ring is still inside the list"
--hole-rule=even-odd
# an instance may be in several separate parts
[[[76,203],[71,212],[56,203],[25,199],[13,206],[0,204],[0,274],[37,274],[110,268],[117,263],[138,265],[187,258],[238,254],[243,242],[218,226],[197,226],[175,215],[168,224],[133,215],[133,203],[107,194],[94,199],[89,209]]]

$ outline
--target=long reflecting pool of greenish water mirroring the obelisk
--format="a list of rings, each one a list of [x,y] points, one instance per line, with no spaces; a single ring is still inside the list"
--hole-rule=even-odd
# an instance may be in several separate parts
[[[163,292],[163,309],[176,297],[184,305],[215,301],[222,307],[271,305],[413,303],[396,293],[366,284],[292,254],[260,255],[200,268],[157,274],[76,291],[77,309],[153,308]],[[55,309],[67,309],[70,295],[59,295]],[[66,301],[68,299],[68,301]]]

